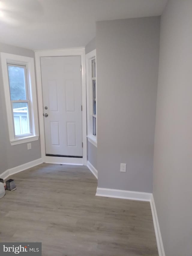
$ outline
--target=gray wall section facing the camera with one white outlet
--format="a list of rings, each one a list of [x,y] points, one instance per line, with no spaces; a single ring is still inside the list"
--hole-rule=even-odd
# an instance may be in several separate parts
[[[160,17],[96,23],[98,187],[152,192],[159,29]]]

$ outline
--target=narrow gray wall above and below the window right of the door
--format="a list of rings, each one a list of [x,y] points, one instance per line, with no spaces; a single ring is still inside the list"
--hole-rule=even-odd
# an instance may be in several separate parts
[[[96,49],[95,38],[85,46],[85,54]],[[97,148],[87,140],[87,160],[97,169]]]

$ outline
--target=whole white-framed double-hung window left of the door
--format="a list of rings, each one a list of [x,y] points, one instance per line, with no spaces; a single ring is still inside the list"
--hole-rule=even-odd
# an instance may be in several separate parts
[[[11,145],[38,140],[38,114],[33,58],[1,53]]]

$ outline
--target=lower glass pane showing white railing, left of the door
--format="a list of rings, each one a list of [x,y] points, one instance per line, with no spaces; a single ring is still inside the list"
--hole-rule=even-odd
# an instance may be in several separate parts
[[[28,103],[13,103],[15,135],[30,133]]]

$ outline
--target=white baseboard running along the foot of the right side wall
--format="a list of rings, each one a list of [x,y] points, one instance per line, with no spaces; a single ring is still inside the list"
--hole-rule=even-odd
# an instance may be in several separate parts
[[[159,227],[157,211],[156,211],[156,207],[155,207],[155,200],[154,200],[153,195],[152,195],[152,198],[150,201],[150,205],[151,205],[151,211],[152,211],[152,216],[153,216],[153,224],[154,224],[154,228],[155,228],[155,236],[156,236],[156,240],[157,240],[158,253],[159,253],[159,256],[165,256],[165,251],[164,251],[164,247],[163,247],[163,241],[162,241],[162,237],[161,237],[161,231],[160,231],[160,227]]]

